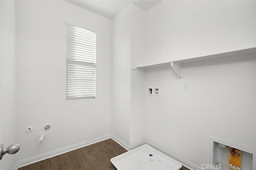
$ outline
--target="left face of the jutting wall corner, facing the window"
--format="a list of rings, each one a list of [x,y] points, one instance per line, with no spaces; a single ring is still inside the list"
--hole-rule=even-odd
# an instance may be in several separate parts
[[[131,120],[131,5],[112,20],[112,131],[130,146]]]

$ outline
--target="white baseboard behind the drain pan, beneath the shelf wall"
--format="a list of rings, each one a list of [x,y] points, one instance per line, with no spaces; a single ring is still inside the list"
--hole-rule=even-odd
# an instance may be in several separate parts
[[[146,144],[150,145],[151,147],[155,148],[156,150],[159,150],[160,152],[170,156],[171,158],[175,159],[176,161],[180,162],[183,166],[185,166],[186,168],[189,168],[190,170],[202,170],[200,167],[196,166],[195,164],[192,164],[174,154],[172,154],[171,152],[161,148],[161,147],[158,147],[157,145],[155,145],[154,143],[152,142],[149,142],[147,141]]]

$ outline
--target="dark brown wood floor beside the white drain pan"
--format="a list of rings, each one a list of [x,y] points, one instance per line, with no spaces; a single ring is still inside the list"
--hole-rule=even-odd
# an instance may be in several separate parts
[[[95,143],[18,170],[116,170],[110,159],[127,152],[112,139]],[[182,167],[180,170],[188,170]]]

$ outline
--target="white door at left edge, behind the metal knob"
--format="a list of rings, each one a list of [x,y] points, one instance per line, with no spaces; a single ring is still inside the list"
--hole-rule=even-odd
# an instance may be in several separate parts
[[[16,1],[0,1],[0,144],[15,140],[15,73],[16,73]],[[16,155],[5,154],[1,170],[13,169]]]

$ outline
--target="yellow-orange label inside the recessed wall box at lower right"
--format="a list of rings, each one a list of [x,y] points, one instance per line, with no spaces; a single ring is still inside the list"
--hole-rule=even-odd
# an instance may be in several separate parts
[[[241,150],[229,147],[228,167],[232,170],[241,170]]]

